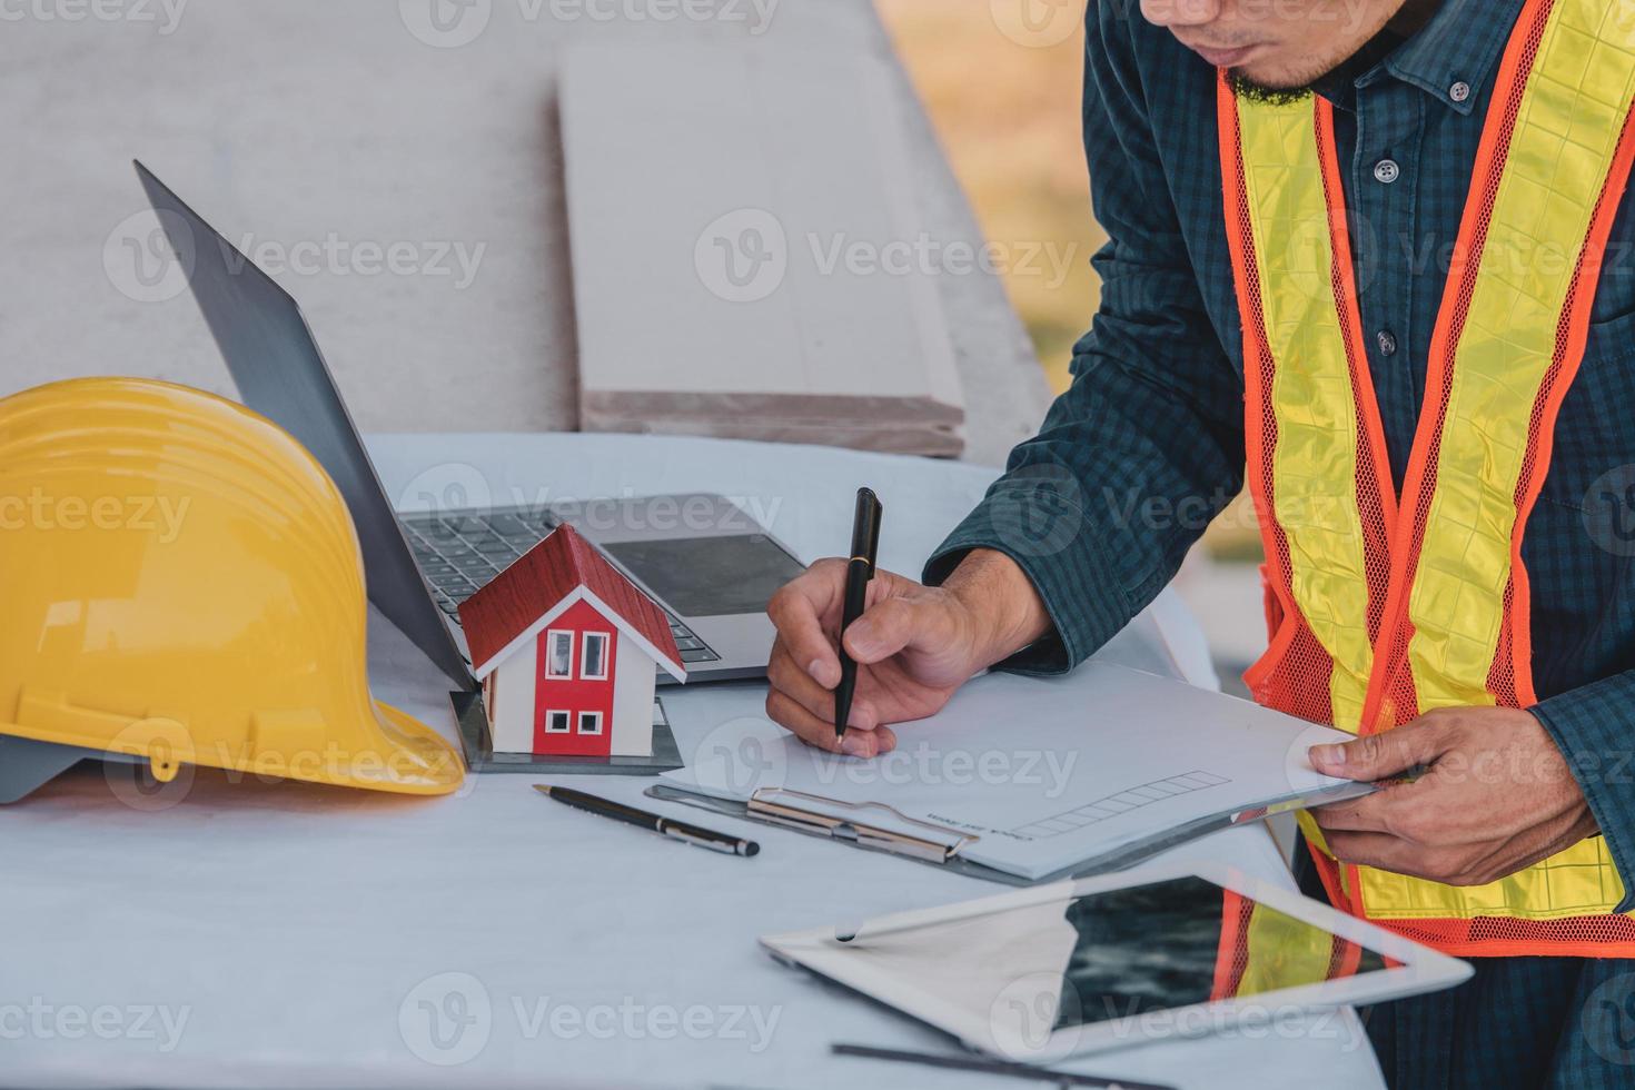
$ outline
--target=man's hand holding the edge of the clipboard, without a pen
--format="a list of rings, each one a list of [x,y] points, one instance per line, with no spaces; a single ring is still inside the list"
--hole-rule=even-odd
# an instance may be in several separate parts
[[[1318,771],[1388,780],[1313,811],[1344,863],[1447,886],[1485,886],[1592,835],[1596,819],[1545,729],[1514,708],[1444,708],[1344,745],[1311,747]]]

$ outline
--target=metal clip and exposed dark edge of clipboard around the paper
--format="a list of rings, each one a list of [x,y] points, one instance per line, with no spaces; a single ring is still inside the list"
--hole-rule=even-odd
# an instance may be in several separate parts
[[[1171,848],[1223,829],[1252,825],[1275,814],[1288,814],[1292,811],[1303,811],[1315,806],[1360,799],[1367,794],[1373,794],[1377,789],[1378,784],[1373,783],[1346,783],[1323,791],[1283,796],[1248,809],[1208,814],[1205,817],[1154,832],[1148,837],[1141,837],[1112,851],[1079,860],[1077,863],[1035,879],[1010,874],[965,858],[961,851],[981,840],[978,833],[907,817],[896,807],[885,802],[849,802],[806,791],[795,791],[791,788],[759,788],[750,794],[747,802],[737,802],[734,799],[723,799],[669,783],[656,783],[647,788],[644,794],[664,802],[680,802],[683,806],[724,814],[728,817],[739,817],[762,825],[791,829],[808,837],[835,840],[853,848],[862,848],[863,851],[880,851],[912,860],[916,863],[940,866],[947,871],[968,874],[989,882],[1028,887],[1063,879],[1094,878],[1097,874],[1122,871],[1135,866],[1136,863],[1151,860],[1153,856]],[[839,814],[845,814],[845,817],[840,817]],[[891,829],[889,825],[880,824],[881,817],[886,817],[888,820],[894,819],[899,825],[907,829]],[[909,832],[909,829],[912,832]]]

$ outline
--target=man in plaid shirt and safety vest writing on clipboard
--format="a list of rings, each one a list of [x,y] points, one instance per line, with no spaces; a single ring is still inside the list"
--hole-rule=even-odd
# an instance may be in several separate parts
[[[1305,815],[1301,884],[1476,964],[1370,1012],[1386,1077],[1635,1080],[1635,3],[1100,0],[1084,83],[1100,312],[925,582],[873,583],[845,752],[1079,663],[1200,531],[1146,515],[1248,472],[1256,699],[1360,735],[1324,771],[1426,768]],[[770,606],[768,714],[822,747],[842,580]]]

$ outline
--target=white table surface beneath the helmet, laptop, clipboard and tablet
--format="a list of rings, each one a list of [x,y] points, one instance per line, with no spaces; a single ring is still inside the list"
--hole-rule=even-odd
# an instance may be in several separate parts
[[[410,503],[445,489],[474,502],[719,490],[759,505],[803,559],[844,547],[852,489],[867,482],[889,511],[881,562],[909,572],[992,477],[710,440],[383,436],[373,448],[387,490]],[[1136,654],[1162,629],[1208,681],[1172,600],[1138,624]],[[446,685],[384,624],[371,672],[378,696],[451,732]],[[719,703],[710,686],[665,695],[683,753],[719,726]],[[587,781],[633,801],[649,783]],[[831,1057],[832,1041],[950,1046],[755,943],[1002,887],[726,817],[710,820],[764,851],[716,856],[553,806],[530,784],[477,776],[425,801],[198,771],[141,809],[88,768],[0,811],[0,1083],[1025,1085]],[[1184,851],[1288,881],[1259,829]],[[1382,1085],[1351,1013],[1073,1067],[1212,1090]]]

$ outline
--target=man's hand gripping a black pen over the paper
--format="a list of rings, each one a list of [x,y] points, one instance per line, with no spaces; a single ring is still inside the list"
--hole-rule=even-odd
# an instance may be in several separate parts
[[[973,673],[1037,641],[1048,616],[1017,564],[973,551],[942,587],[876,572],[868,606],[845,631],[858,663],[857,695],[844,745],[834,737],[834,686],[840,683],[840,610],[845,561],[818,561],[767,606],[778,628],[767,678],[767,714],[804,742],[853,757],[898,744],[886,724],[924,719],[948,703]]]

